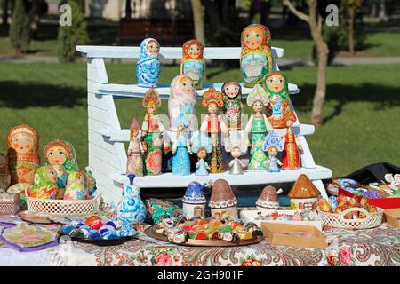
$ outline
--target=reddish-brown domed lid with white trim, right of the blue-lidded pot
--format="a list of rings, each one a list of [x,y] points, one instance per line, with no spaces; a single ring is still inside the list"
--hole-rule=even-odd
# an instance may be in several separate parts
[[[211,208],[227,208],[237,205],[235,194],[228,181],[217,179],[212,185],[212,196],[208,205]]]

